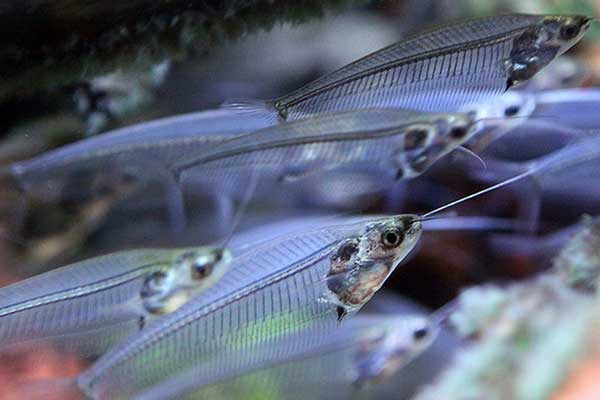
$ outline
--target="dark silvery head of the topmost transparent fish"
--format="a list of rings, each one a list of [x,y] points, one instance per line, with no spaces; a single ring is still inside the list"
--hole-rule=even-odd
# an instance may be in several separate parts
[[[546,16],[527,29],[513,43],[505,67],[507,87],[531,79],[577,43],[589,29],[592,19],[582,15]]]

